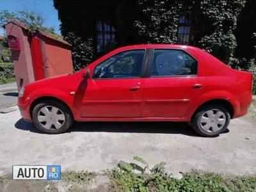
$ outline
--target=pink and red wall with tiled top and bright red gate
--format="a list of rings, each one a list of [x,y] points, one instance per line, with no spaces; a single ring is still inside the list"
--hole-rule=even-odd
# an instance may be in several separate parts
[[[17,20],[4,25],[7,35],[19,40],[12,50],[17,88],[40,79],[69,74],[73,71],[72,45],[42,31],[30,31]]]

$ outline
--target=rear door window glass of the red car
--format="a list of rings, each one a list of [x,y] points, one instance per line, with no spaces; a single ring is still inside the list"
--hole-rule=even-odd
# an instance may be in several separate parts
[[[175,49],[155,49],[151,76],[196,75],[197,62],[188,53]]]

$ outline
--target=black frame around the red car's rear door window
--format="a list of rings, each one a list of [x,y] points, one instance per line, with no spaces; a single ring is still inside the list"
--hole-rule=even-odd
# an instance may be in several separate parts
[[[191,56],[191,58],[193,58],[195,61],[196,61],[196,75],[177,75],[177,76],[152,76],[151,72],[152,72],[152,67],[153,67],[153,63],[154,63],[154,52],[155,50],[157,49],[168,49],[168,50],[178,50],[178,51],[183,51],[185,52],[186,54],[188,54],[189,56]],[[150,60],[148,61],[148,66],[147,66],[147,74],[146,76],[147,77],[150,77],[150,78],[154,78],[154,77],[157,77],[157,78],[161,78],[161,77],[196,77],[198,76],[198,72],[199,72],[199,62],[198,60],[196,60],[196,58],[191,55],[188,51],[185,51],[184,49],[179,49],[179,48],[168,48],[168,47],[163,47],[163,48],[154,48],[154,49],[151,49],[150,51]]]

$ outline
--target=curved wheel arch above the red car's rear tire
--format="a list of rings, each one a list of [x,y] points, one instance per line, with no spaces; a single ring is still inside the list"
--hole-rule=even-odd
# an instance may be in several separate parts
[[[191,116],[191,119],[193,118],[193,116],[195,116],[195,114],[202,108],[204,108],[205,106],[209,105],[209,104],[221,104],[222,106],[225,106],[225,108],[228,109],[229,113],[230,113],[230,118],[233,118],[234,116],[234,106],[232,106],[232,104],[230,102],[228,102],[228,100],[225,99],[211,99],[211,100],[207,100],[206,102],[204,102],[203,104],[201,104],[193,113],[193,115]]]

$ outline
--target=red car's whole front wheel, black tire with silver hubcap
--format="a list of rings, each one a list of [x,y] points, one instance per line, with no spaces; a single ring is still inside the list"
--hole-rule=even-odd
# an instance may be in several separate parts
[[[73,116],[68,107],[56,100],[43,100],[36,104],[32,120],[39,131],[47,134],[60,134],[73,124]]]

